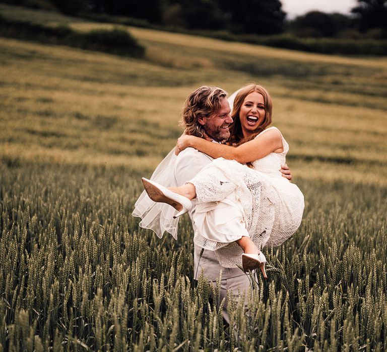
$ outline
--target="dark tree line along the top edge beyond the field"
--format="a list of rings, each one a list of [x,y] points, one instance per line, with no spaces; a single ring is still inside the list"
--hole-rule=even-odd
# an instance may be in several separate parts
[[[14,5],[31,0],[0,0]],[[311,11],[287,20],[279,0],[40,0],[68,15],[124,16],[188,30],[300,37],[387,38],[387,0],[358,0],[351,15]]]

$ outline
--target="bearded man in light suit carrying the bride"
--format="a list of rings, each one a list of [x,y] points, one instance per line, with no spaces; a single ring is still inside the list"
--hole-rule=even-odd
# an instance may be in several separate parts
[[[182,117],[187,134],[211,139],[213,142],[223,143],[230,137],[230,126],[233,122],[231,109],[227,101],[227,93],[214,86],[201,86],[191,93],[185,101]],[[181,151],[174,164],[174,178],[176,185],[184,185],[192,179],[204,166],[213,159],[193,148]],[[281,170],[284,177],[291,180],[291,174],[286,165]],[[189,212],[192,214],[195,207]],[[192,221],[193,230],[197,228]],[[227,290],[237,299],[239,291],[247,292],[250,287],[248,276],[239,268],[223,268],[219,265],[215,252],[203,250],[195,245],[194,253],[194,278],[197,280],[201,273],[214,284],[221,277],[220,302],[225,299],[223,317],[229,322],[227,314]]]

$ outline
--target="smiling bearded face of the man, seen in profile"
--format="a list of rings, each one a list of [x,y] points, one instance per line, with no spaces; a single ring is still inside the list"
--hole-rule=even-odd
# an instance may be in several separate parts
[[[220,110],[209,117],[203,117],[199,123],[209,137],[217,142],[227,141],[230,138],[230,125],[232,124],[231,109],[226,98],[221,101]]]

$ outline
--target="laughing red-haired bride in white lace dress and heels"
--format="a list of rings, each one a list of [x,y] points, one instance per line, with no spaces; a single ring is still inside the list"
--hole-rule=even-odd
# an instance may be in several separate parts
[[[279,172],[289,146],[277,128],[267,128],[272,118],[268,92],[260,85],[243,87],[236,95],[232,118],[231,142],[236,147],[193,136],[179,138],[178,150],[191,146],[217,158],[189,183],[168,190],[146,179],[143,182],[151,199],[181,210],[178,215],[195,199],[193,220],[200,233],[195,243],[215,250],[224,267],[238,265],[233,256],[237,243],[244,251],[243,268],[260,267],[266,277],[266,259],[260,249],[267,242],[279,245],[296,231],[303,195]],[[235,207],[239,214],[230,218],[230,209]],[[240,222],[246,222],[244,233]],[[210,223],[215,225],[209,228]]]

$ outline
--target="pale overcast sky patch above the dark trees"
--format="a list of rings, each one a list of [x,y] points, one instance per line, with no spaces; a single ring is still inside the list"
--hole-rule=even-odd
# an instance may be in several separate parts
[[[292,19],[312,10],[349,14],[357,4],[357,0],[281,0],[281,3],[287,18]]]

